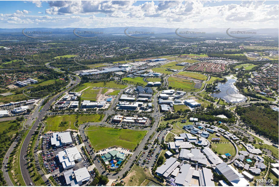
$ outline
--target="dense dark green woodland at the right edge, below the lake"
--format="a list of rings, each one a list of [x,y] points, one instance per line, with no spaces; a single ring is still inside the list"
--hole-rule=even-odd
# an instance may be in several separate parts
[[[263,107],[258,107],[263,106]],[[251,107],[236,107],[236,113],[252,130],[278,142],[278,112],[268,104],[257,103]]]

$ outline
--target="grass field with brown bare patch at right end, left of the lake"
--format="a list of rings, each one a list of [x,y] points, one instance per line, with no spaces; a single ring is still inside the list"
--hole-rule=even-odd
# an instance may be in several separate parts
[[[195,83],[191,82],[188,79],[178,78],[178,77],[169,77],[169,86],[172,88],[178,88],[180,90],[186,91],[200,91],[201,89],[194,88]],[[204,84],[202,84],[201,88]]]

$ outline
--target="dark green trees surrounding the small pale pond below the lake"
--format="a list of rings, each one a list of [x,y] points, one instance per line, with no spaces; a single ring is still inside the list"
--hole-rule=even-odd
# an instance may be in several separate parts
[[[227,118],[217,117],[218,115],[224,115]],[[207,112],[190,114],[189,117],[198,118],[199,120],[208,121],[208,122],[214,122],[214,121],[221,121],[224,123],[228,123],[228,122],[234,123],[235,122],[234,114],[231,111],[223,109],[223,108],[209,110]]]

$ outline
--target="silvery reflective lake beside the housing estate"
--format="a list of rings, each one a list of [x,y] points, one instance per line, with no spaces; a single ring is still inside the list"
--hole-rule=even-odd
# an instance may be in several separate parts
[[[244,102],[247,97],[242,95],[237,87],[234,86],[236,79],[232,76],[226,77],[228,81],[226,83],[218,83],[216,88],[221,92],[212,94],[213,97],[224,99],[227,103],[240,103]]]

